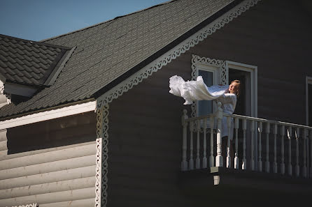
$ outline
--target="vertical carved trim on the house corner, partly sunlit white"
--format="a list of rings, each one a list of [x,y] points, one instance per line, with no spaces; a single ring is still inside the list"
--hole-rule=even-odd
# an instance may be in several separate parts
[[[97,109],[95,206],[106,207],[108,187],[108,105]]]

